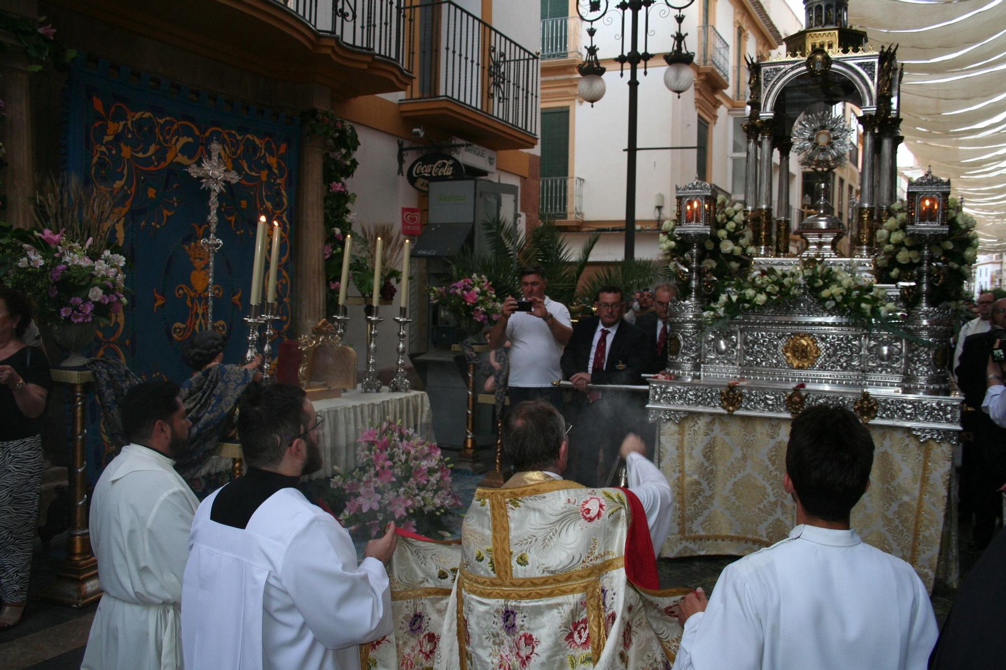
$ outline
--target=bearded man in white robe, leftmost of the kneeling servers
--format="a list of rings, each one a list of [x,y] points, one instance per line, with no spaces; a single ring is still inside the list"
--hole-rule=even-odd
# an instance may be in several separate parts
[[[122,415],[131,444],[105,468],[91,503],[105,595],[82,668],[174,670],[182,661],[182,575],[199,501],[171,457],[185,453],[191,424],[171,381],[133,386]]]

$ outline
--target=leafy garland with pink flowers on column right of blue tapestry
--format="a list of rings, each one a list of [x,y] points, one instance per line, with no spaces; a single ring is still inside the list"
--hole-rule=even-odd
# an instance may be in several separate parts
[[[325,280],[328,282],[326,306],[334,311],[338,302],[339,280],[342,277],[342,256],[345,236],[352,232],[356,214],[349,206],[356,194],[349,192],[346,180],[353,176],[359,162],[354,157],[360,146],[352,124],[325,110],[309,110],[303,123],[312,135],[322,138],[322,179],[325,182]]]

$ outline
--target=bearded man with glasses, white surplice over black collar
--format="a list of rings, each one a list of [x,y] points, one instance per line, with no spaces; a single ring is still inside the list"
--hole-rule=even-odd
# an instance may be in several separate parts
[[[394,524],[357,565],[349,533],[296,488],[321,468],[320,422],[298,386],[253,387],[241,400],[248,470],[202,502],[189,538],[187,669],[356,669],[359,645],[391,632]]]

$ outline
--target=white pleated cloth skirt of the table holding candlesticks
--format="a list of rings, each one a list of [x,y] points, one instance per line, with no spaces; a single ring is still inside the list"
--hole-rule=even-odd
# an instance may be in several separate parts
[[[360,434],[384,421],[400,422],[423,439],[436,442],[430,396],[424,391],[391,393],[386,388],[379,393],[364,393],[357,387],[345,391],[342,397],[314,402],[315,411],[325,417],[319,436],[324,465],[310,479],[331,477],[334,467],[343,471],[355,467]]]

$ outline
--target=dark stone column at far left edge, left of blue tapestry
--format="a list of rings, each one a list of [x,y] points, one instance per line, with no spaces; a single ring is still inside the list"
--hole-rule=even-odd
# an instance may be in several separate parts
[[[7,149],[4,177],[7,187],[6,218],[20,228],[35,222],[31,202],[35,195],[34,136],[31,132],[31,94],[28,57],[17,38],[0,31],[0,42],[7,52],[3,57],[3,101],[7,105],[3,120],[3,143]]]

